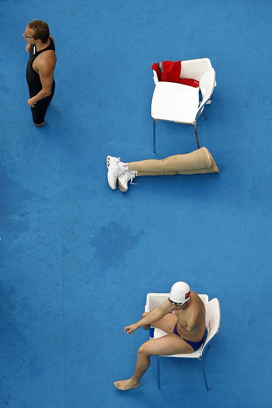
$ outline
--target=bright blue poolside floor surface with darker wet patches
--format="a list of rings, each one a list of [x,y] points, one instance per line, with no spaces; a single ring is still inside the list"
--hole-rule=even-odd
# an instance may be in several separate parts
[[[1,406],[270,406],[269,1],[2,3]],[[34,18],[56,39],[46,126],[26,104]],[[200,144],[220,174],[138,177],[122,194],[107,155],[163,158],[196,148],[193,127],[157,124],[151,64],[209,57],[217,87]],[[148,292],[176,281],[221,301],[221,330],[196,362],[155,359],[137,390]],[[194,364],[195,363],[195,364]]]

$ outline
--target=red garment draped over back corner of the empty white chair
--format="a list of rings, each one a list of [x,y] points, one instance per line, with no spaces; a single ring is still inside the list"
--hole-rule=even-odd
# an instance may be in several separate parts
[[[159,81],[175,82],[177,84],[183,84],[197,88],[199,86],[199,81],[191,78],[179,78],[181,68],[182,65],[180,60],[156,62],[151,67],[151,69],[154,69],[154,71],[156,71]]]

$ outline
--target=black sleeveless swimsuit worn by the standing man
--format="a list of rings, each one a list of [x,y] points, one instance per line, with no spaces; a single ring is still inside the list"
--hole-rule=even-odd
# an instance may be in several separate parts
[[[42,49],[41,51],[37,51],[36,45],[31,45],[30,48],[29,62],[28,66],[26,67],[26,81],[28,82],[29,86],[30,98],[37,95],[37,93],[39,93],[42,90],[40,75],[38,74],[38,72],[34,71],[32,67],[34,60],[38,57],[38,55],[40,55],[44,51],[47,51],[48,49],[51,49],[55,52],[55,45],[53,43],[53,40],[50,37],[49,40],[50,44],[48,45],[48,47]],[[31,108],[34,123],[40,124],[44,122],[45,114],[48,105],[50,104],[50,101],[54,95],[54,92],[55,92],[55,80],[53,80],[52,83],[51,94],[39,100],[35,104],[35,107]]]

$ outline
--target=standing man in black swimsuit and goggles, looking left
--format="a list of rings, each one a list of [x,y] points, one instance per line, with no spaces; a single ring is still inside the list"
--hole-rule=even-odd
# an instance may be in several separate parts
[[[55,42],[49,34],[49,27],[45,21],[33,20],[26,25],[23,37],[25,50],[30,53],[26,67],[26,81],[29,86],[33,122],[35,126],[45,124],[45,114],[55,92],[54,69],[57,57]]]

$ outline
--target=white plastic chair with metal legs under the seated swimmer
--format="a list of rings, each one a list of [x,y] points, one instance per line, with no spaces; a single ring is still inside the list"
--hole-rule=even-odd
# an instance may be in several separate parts
[[[166,299],[168,299],[169,293],[148,293],[145,305],[145,312],[151,312],[154,308],[158,307],[161,303],[163,303]],[[189,354],[173,354],[173,355],[157,355],[157,388],[160,388],[160,375],[159,375],[159,359],[160,357],[166,358],[182,358],[182,359],[197,359],[200,362],[206,391],[209,391],[207,378],[204,370],[204,363],[203,363],[203,354],[207,348],[210,348],[209,343],[213,339],[213,337],[219,332],[220,328],[220,321],[221,321],[221,310],[220,310],[220,301],[215,297],[208,301],[207,295],[199,295],[202,299],[203,303],[205,304],[206,308],[206,326],[208,330],[208,334],[204,344],[196,351],[189,353]],[[165,331],[160,330],[158,328],[154,329],[154,339],[159,337],[165,336],[167,333]],[[152,339],[152,338],[150,338]]]

